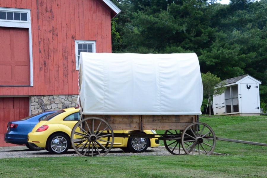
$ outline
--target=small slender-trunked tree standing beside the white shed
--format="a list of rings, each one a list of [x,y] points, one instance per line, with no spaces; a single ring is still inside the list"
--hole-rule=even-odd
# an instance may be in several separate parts
[[[220,77],[207,72],[206,74],[201,73],[202,83],[203,83],[203,93],[208,96],[209,103],[209,116],[211,115],[210,105],[211,97],[213,95],[220,95],[225,91],[225,83],[221,81]],[[220,83],[219,86],[216,86]]]

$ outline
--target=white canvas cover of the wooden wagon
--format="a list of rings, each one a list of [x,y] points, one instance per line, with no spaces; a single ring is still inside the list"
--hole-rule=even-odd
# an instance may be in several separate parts
[[[79,80],[84,115],[201,114],[195,53],[81,53]]]

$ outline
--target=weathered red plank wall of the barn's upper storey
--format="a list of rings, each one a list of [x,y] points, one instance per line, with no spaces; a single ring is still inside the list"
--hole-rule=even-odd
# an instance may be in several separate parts
[[[111,10],[98,0],[1,0],[31,9],[33,87],[0,87],[1,95],[78,94],[74,40],[95,40],[111,53]]]

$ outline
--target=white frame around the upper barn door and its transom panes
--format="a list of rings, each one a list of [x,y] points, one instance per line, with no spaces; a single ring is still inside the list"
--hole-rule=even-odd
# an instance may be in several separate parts
[[[33,86],[31,9],[15,9],[15,8],[0,7],[0,11],[27,13],[27,21],[0,19],[0,26],[1,27],[14,27],[14,28],[28,28],[28,32],[29,32],[29,56],[30,56],[30,86]]]

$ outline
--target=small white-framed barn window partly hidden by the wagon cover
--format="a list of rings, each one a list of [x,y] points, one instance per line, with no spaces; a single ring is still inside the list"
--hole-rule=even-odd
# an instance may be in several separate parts
[[[79,70],[80,53],[95,53],[96,41],[75,40],[76,70]]]

